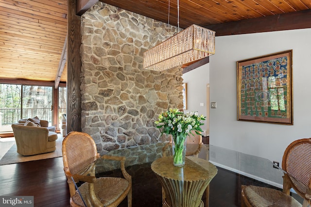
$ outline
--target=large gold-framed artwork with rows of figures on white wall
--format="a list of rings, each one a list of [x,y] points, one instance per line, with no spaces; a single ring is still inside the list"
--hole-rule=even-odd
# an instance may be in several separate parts
[[[238,120],[293,125],[293,50],[237,62]]]

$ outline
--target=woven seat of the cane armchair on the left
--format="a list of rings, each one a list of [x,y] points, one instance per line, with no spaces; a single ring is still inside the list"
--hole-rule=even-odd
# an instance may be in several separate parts
[[[115,202],[124,191],[129,187],[129,182],[126,179],[120,177],[100,177],[97,178],[97,182],[94,183],[94,190],[97,198],[101,200],[103,206],[108,206]],[[84,198],[89,199],[88,183],[84,183],[79,187],[79,191]],[[127,192],[125,193],[127,194]],[[78,193],[72,197],[74,203],[79,206],[84,206],[84,203]]]

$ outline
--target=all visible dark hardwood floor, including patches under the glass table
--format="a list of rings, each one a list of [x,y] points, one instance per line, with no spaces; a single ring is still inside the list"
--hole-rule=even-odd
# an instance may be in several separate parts
[[[128,167],[133,182],[133,207],[161,207],[161,186],[150,163]],[[120,172],[110,172],[117,175]],[[240,207],[241,185],[268,186],[218,168],[210,183],[210,207]],[[69,190],[62,158],[43,159],[0,166],[0,195],[33,195],[35,207],[69,207]],[[294,196],[298,201],[302,200]],[[205,196],[202,199],[205,202]],[[126,207],[126,199],[120,207]]]

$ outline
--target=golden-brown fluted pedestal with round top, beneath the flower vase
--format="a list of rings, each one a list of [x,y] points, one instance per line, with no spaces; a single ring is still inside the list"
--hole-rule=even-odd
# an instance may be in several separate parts
[[[203,207],[201,200],[217,168],[205,159],[186,157],[185,166],[173,165],[173,156],[156,159],[151,169],[159,179],[164,207]]]

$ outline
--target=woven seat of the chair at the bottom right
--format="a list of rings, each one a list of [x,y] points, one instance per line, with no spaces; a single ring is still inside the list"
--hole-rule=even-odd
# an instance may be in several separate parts
[[[302,207],[292,196],[282,191],[259,186],[242,186],[252,207]]]

